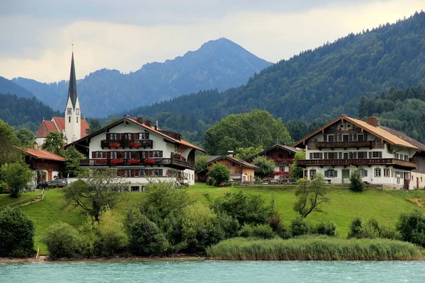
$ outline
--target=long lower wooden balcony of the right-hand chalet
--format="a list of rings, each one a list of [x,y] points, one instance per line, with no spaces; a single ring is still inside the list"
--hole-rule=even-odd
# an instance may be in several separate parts
[[[395,158],[367,158],[367,159],[310,159],[298,160],[297,166],[372,166],[386,165],[406,170],[416,169],[416,163]]]

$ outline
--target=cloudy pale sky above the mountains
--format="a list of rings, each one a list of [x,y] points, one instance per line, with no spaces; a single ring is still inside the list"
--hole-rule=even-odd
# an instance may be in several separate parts
[[[424,0],[0,0],[0,76],[127,74],[226,37],[269,62],[395,23]],[[72,42],[74,45],[72,46]]]

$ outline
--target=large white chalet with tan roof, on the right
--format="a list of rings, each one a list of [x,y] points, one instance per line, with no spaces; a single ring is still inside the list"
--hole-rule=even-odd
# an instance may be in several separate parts
[[[305,149],[306,159],[297,165],[305,168],[306,178],[322,173],[329,183],[349,183],[354,166],[365,183],[414,189],[425,176],[420,154],[425,145],[380,127],[377,118],[364,122],[341,115],[293,146]]]

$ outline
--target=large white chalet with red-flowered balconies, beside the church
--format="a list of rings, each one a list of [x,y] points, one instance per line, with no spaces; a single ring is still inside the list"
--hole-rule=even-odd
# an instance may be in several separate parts
[[[205,152],[143,117],[123,117],[67,146],[86,156],[82,167],[118,169],[117,177],[129,182],[133,191],[142,190],[152,176],[193,185],[195,151]]]

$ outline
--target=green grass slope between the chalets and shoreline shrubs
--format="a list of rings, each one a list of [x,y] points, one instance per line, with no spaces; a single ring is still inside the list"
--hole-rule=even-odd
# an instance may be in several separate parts
[[[280,213],[285,224],[289,224],[290,220],[295,216],[293,204],[295,203],[295,187],[285,187],[279,185],[263,185],[258,187],[212,187],[198,183],[189,187],[188,192],[194,200],[207,203],[203,194],[208,194],[215,198],[226,192],[244,192],[261,195],[269,204],[274,198],[275,206]],[[8,197],[8,195],[0,195],[0,207],[24,200],[33,195],[40,194],[40,191],[27,192],[22,194],[18,199]],[[116,209],[125,213],[129,204],[137,202],[143,197],[143,193],[131,192],[126,194],[125,200],[121,202]],[[313,212],[307,216],[307,221],[312,223],[320,220],[335,222],[340,237],[345,238],[348,233],[348,226],[351,220],[358,216],[363,219],[374,218],[380,224],[395,224],[401,212],[408,212],[416,208],[416,205],[409,202],[411,198],[424,198],[425,191],[392,191],[392,190],[365,190],[364,192],[351,192],[344,188],[334,188],[329,190],[328,194],[331,202],[325,204],[324,213]],[[40,246],[40,253],[45,254],[47,250],[40,243],[40,236],[45,233],[50,224],[57,221],[64,221],[74,226],[79,226],[85,219],[86,215],[79,209],[62,209],[64,206],[64,197],[60,189],[46,190],[45,199],[35,204],[22,207],[30,219],[35,224],[35,246]]]

